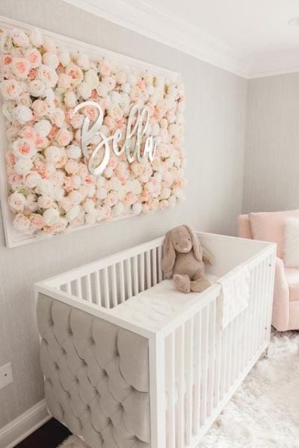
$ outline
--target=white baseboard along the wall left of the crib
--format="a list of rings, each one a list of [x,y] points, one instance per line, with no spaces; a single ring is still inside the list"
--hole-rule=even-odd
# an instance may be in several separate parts
[[[0,429],[0,448],[13,448],[51,418],[45,400]]]

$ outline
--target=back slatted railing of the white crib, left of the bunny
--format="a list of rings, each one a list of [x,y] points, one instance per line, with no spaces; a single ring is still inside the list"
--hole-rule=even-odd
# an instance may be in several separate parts
[[[113,308],[162,281],[162,238],[53,277],[49,286],[78,300]],[[139,248],[139,250],[137,250]],[[132,253],[132,256],[130,254]]]

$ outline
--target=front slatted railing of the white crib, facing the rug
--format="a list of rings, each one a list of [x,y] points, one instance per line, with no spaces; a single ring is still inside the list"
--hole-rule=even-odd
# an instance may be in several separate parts
[[[249,306],[226,328],[221,330],[221,298],[215,286],[213,294],[156,335],[158,387],[166,391],[166,395],[158,393],[153,409],[161,420],[157,447],[195,447],[265,350],[270,338],[274,256],[273,250],[268,251],[249,264]]]

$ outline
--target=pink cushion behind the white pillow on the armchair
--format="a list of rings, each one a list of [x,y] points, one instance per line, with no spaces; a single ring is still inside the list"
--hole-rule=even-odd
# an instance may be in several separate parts
[[[299,210],[249,214],[253,238],[277,243],[277,257],[279,258],[284,258],[284,222],[288,217],[299,218]]]

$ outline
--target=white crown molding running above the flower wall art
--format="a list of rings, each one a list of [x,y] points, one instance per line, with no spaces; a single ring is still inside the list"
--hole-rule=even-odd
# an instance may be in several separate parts
[[[247,77],[250,62],[229,45],[189,22],[141,0],[64,0],[110,22],[165,43],[239,76]]]

